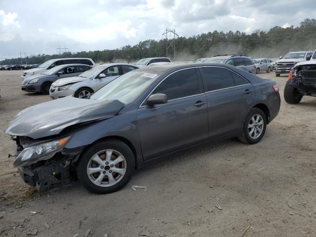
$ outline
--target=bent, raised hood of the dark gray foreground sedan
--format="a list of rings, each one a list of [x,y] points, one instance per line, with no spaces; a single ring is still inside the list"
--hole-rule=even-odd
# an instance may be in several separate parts
[[[112,117],[123,107],[124,104],[118,100],[86,100],[67,96],[21,111],[5,132],[38,139],[56,135],[74,124]]]

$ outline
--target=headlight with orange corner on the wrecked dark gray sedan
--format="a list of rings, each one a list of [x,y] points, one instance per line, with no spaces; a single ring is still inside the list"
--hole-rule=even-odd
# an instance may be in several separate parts
[[[71,136],[68,136],[45,143],[32,144],[31,147],[23,149],[14,160],[13,166],[29,165],[40,160],[52,158],[57,152],[63,149],[70,138]]]

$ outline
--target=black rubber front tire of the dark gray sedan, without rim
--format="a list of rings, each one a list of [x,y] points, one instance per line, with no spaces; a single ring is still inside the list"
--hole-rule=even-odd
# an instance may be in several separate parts
[[[96,184],[94,184],[88,174],[87,174],[87,167],[89,165],[90,159],[97,154],[98,152],[101,152],[103,150],[115,150],[119,152],[126,161],[126,171],[123,175],[123,177],[118,181],[118,183],[114,184],[110,187],[101,187]],[[105,168],[104,168],[105,169]],[[111,168],[110,168],[111,169]],[[101,141],[98,142],[91,147],[89,147],[79,158],[79,163],[77,166],[77,176],[82,184],[82,186],[87,189],[89,192],[95,193],[95,194],[109,194],[116,192],[120,189],[122,189],[131,179],[133,173],[135,170],[135,158],[130,150],[130,148],[122,141],[111,139],[108,141]],[[107,171],[109,172],[109,171]],[[101,175],[101,173],[99,173]],[[106,175],[106,174],[105,174]],[[103,179],[101,183],[103,182]]]

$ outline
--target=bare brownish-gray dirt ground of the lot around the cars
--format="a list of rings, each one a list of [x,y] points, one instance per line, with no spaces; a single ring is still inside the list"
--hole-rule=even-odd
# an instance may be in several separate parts
[[[256,145],[236,139],[141,169],[121,191],[93,195],[78,182],[34,193],[12,167],[4,134],[22,109],[49,97],[20,89],[21,71],[0,71],[0,236],[316,236],[316,98],[286,104]],[[147,192],[130,189],[147,186]],[[222,210],[215,205],[219,203]]]

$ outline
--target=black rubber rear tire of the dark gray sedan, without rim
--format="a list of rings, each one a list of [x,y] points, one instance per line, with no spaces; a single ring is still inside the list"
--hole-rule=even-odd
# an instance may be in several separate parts
[[[260,115],[262,117],[262,119],[263,119],[262,132],[261,132],[261,134],[260,134],[260,136],[258,138],[252,138],[249,135],[249,131],[248,131],[248,124],[250,122],[250,119],[253,116],[255,116],[255,115]],[[256,144],[265,135],[266,128],[267,128],[267,118],[266,118],[265,113],[262,110],[258,109],[258,108],[252,108],[250,110],[249,114],[247,115],[247,117],[244,120],[243,127],[242,127],[242,134],[238,137],[238,140],[243,142],[243,143],[247,143],[247,144]]]

